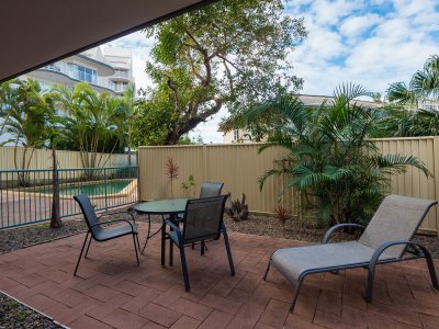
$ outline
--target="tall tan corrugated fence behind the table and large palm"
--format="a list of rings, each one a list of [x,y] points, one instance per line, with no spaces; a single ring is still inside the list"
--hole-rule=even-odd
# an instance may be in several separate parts
[[[435,174],[435,178],[427,179],[419,170],[409,168],[392,178],[391,193],[434,200],[439,197],[439,184],[436,183],[439,179],[439,137],[385,138],[375,139],[375,144],[383,154],[417,157]],[[230,192],[233,198],[240,198],[240,194],[246,193],[250,211],[272,213],[285,186],[285,179],[270,178],[262,191],[259,191],[257,180],[266,170],[273,168],[273,161],[281,158],[283,150],[272,148],[258,154],[259,147],[258,144],[140,147],[140,200],[171,196],[166,161],[172,158],[179,166],[179,178],[172,184],[173,197],[198,195],[202,181],[222,181],[225,183],[223,192]],[[196,183],[192,191],[181,186],[189,175],[193,175]],[[284,202],[296,211],[292,193]],[[436,212],[430,212],[421,228],[438,232],[438,207]]]

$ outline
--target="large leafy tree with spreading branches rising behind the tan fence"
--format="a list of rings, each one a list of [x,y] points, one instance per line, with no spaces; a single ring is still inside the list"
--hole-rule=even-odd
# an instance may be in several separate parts
[[[134,143],[177,144],[223,106],[236,114],[299,89],[288,56],[306,32],[282,12],[281,0],[223,0],[146,30],[154,88],[136,104]]]

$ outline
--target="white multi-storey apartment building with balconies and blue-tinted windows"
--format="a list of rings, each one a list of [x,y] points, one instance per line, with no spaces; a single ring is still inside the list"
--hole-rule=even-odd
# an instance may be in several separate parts
[[[122,95],[134,83],[131,49],[97,47],[26,73],[23,78],[37,80],[43,89],[54,84],[75,87],[85,81],[101,93]]]

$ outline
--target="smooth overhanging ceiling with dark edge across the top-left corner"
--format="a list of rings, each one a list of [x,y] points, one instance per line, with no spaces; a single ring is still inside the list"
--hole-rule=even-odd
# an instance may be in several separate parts
[[[0,82],[214,0],[1,0]]]

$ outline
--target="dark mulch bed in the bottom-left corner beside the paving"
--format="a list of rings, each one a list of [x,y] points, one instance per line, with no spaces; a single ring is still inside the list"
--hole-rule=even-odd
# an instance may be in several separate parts
[[[65,327],[0,292],[0,328],[55,329]]]

